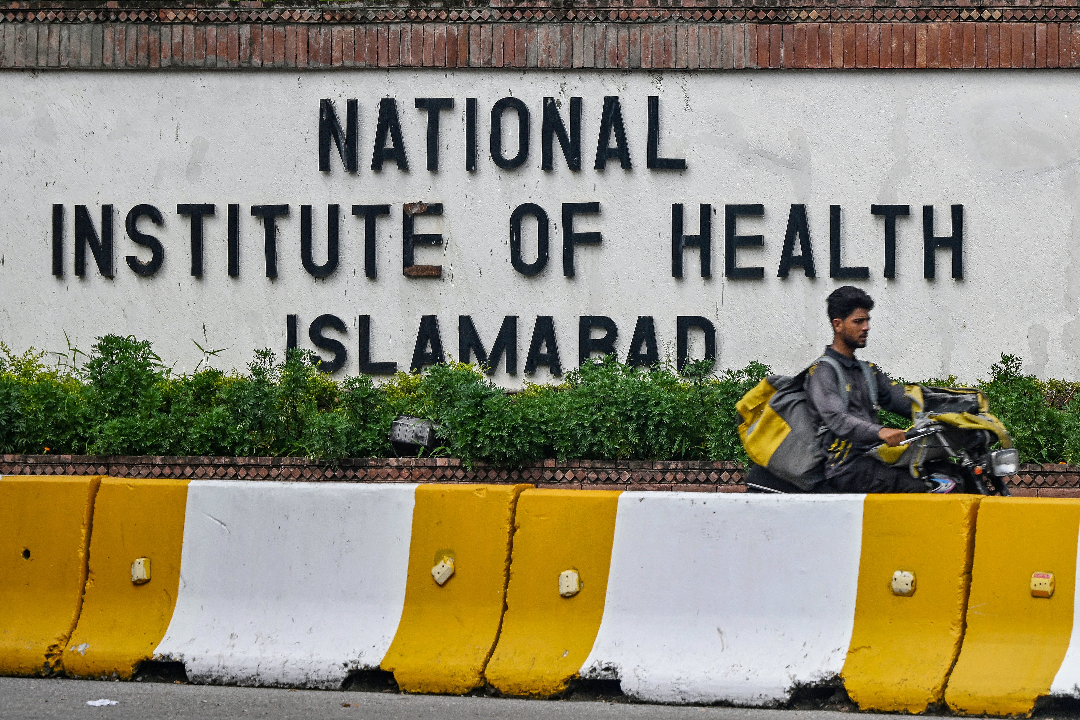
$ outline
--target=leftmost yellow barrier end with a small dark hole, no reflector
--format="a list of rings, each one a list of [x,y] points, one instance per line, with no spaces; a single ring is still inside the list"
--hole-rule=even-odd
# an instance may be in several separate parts
[[[0,478],[0,675],[51,675],[82,601],[100,477]]]

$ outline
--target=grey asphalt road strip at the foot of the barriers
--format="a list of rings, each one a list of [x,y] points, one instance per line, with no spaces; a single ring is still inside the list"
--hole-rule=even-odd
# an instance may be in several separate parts
[[[86,701],[117,705],[91,707]],[[619,698],[611,698],[618,701]],[[162,682],[97,682],[0,678],[0,718],[353,718],[363,720],[850,720],[851,712],[673,707],[610,702],[527,701],[496,697],[403,695],[392,692],[337,692],[232,688]]]

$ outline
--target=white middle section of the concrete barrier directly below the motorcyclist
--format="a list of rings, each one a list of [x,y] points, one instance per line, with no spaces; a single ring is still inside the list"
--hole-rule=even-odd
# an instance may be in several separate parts
[[[759,706],[839,675],[864,498],[622,493],[582,677],[661,703]]]

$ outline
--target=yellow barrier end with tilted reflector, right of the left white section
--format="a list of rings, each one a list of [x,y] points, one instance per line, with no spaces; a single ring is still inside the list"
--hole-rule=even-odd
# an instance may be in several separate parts
[[[380,667],[409,692],[461,694],[484,683],[499,636],[514,505],[529,485],[416,489],[405,604]],[[432,569],[453,558],[440,585]]]

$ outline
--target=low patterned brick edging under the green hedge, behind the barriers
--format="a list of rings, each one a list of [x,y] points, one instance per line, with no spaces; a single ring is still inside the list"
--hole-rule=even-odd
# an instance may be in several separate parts
[[[352,483],[531,483],[543,488],[742,492],[735,462],[693,460],[543,460],[522,467],[455,458],[306,458],[157,456],[0,456],[0,475],[111,475],[133,478]],[[1080,465],[1022,465],[1014,494],[1080,498]]]

